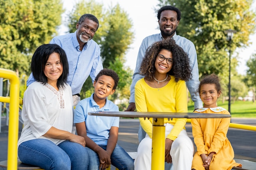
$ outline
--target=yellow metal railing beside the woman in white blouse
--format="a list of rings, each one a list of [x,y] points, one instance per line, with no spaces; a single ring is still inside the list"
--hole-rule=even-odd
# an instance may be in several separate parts
[[[7,170],[17,170],[20,81],[14,71],[4,68],[0,68],[0,77],[10,80],[10,97],[0,97],[0,102],[10,103]]]

